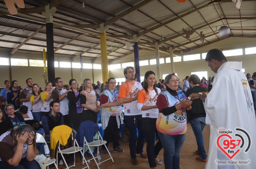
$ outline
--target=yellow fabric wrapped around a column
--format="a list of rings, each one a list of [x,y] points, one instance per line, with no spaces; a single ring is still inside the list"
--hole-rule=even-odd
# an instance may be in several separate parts
[[[107,39],[106,33],[101,33],[101,70],[102,70],[102,82],[109,79],[109,71],[107,65]]]

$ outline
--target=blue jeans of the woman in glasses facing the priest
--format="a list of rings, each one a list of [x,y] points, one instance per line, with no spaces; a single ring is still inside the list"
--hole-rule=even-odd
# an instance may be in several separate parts
[[[179,169],[179,152],[185,141],[186,133],[169,135],[158,131],[163,145],[163,160],[165,169]]]

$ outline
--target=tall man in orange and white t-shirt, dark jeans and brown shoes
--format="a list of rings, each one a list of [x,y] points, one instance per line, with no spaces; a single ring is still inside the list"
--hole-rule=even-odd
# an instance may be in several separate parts
[[[123,74],[127,80],[120,85],[118,97],[120,104],[123,104],[126,125],[130,132],[129,148],[131,163],[136,165],[139,164],[136,154],[140,154],[141,157],[147,158],[147,154],[143,152],[145,135],[142,131],[142,112],[137,108],[138,93],[139,90],[142,90],[142,86],[139,82],[135,81],[133,67],[126,67]],[[139,136],[136,145],[137,129],[139,131]]]

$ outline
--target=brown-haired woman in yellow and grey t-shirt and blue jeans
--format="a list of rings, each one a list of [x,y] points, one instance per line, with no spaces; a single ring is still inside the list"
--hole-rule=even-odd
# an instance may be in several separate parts
[[[41,99],[41,93],[38,84],[32,85],[32,93],[30,94],[30,101],[32,103],[32,115],[35,120],[42,121],[42,99]]]

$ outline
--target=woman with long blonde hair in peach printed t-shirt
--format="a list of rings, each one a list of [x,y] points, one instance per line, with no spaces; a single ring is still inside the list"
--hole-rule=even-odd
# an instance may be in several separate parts
[[[83,90],[80,98],[81,98],[81,105],[83,106],[83,114],[81,118],[81,122],[83,121],[93,121],[94,123],[97,123],[98,118],[98,111],[99,111],[99,105],[96,97],[95,91],[91,87],[91,80],[85,79],[83,80]]]

